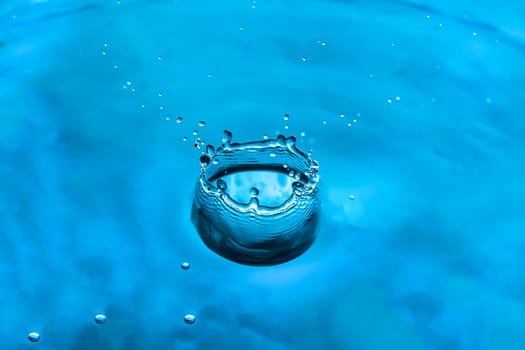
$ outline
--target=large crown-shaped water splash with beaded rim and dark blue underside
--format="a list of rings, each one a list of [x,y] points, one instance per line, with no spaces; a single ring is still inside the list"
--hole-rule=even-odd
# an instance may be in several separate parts
[[[191,216],[202,241],[222,257],[246,265],[276,265],[298,257],[316,236],[319,164],[296,147],[293,136],[247,143],[231,139],[225,131],[222,146],[215,150],[208,145],[200,159]],[[245,181],[246,200],[232,195],[239,188],[229,188],[229,176],[250,174],[246,178],[253,181],[258,173],[259,185]],[[264,183],[279,176],[289,181]],[[265,193],[270,188],[272,193]],[[282,201],[261,202],[271,194]]]

